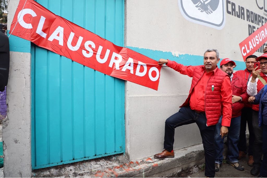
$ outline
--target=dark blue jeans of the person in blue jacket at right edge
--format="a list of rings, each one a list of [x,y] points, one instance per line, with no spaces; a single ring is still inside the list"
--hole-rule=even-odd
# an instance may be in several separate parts
[[[263,160],[261,162],[260,175],[262,177],[267,177],[267,125],[262,124],[262,152]]]

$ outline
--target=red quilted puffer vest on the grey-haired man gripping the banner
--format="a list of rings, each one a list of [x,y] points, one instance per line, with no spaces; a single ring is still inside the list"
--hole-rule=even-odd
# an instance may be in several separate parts
[[[192,94],[192,90],[194,89],[195,85],[200,80],[200,78],[203,76],[204,72],[205,69],[203,65],[197,66],[194,69],[189,95],[186,101],[182,104],[182,106],[180,106],[180,108],[184,106],[189,106],[189,99]],[[207,82],[206,92],[205,92],[205,113],[207,118],[207,126],[215,125],[219,121],[219,117],[222,114],[222,102],[221,102],[222,81],[225,78],[225,76],[229,77],[228,74],[226,74],[219,68],[216,68],[213,72],[214,74],[211,75],[211,77]],[[212,91],[213,87],[214,89]]]

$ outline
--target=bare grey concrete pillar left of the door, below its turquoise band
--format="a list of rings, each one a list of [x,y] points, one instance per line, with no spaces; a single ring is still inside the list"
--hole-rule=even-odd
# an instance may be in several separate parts
[[[10,52],[7,120],[3,121],[5,177],[31,177],[30,53]]]

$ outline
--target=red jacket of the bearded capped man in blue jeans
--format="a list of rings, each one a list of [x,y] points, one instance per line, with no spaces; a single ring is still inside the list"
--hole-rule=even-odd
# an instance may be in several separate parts
[[[241,96],[242,102],[236,102],[232,105],[232,118],[241,116],[241,109],[244,108],[244,102],[248,101],[246,82],[240,77],[233,74],[231,87],[233,95]]]

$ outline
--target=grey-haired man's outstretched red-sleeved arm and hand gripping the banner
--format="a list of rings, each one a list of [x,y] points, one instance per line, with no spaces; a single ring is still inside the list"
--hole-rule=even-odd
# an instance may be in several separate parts
[[[196,66],[184,66],[182,64],[178,64],[175,61],[160,59],[158,61],[159,65],[166,64],[168,67],[180,72],[180,74],[188,75],[189,77],[193,77],[193,72]]]

